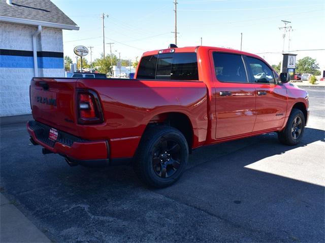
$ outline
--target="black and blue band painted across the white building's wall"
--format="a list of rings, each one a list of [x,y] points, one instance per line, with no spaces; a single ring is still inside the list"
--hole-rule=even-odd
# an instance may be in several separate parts
[[[62,52],[37,52],[38,68],[64,68]],[[0,49],[0,67],[34,68],[31,51]]]

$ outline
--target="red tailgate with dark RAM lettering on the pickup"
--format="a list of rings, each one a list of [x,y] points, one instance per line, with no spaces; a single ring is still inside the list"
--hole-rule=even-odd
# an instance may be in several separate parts
[[[78,135],[76,83],[72,78],[33,78],[30,83],[32,115],[40,123]]]

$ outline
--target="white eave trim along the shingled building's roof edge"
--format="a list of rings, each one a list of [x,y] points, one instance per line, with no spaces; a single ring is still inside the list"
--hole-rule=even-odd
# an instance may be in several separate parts
[[[47,21],[21,19],[21,18],[7,17],[7,16],[0,16],[0,21],[17,23],[17,24],[27,24],[27,25],[42,25],[44,27],[51,27],[51,28],[58,28],[58,29],[79,30],[79,26],[76,25],[59,24],[59,23],[52,23]]]

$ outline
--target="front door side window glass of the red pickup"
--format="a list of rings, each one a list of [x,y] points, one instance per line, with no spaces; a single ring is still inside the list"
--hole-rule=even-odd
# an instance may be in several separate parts
[[[253,83],[275,84],[273,71],[263,61],[253,57],[246,57],[246,62]]]

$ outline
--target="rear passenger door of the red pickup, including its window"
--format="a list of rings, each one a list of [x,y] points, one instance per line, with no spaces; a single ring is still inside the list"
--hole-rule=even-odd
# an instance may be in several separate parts
[[[210,51],[216,87],[216,139],[251,133],[256,115],[255,88],[248,82],[242,55]]]

